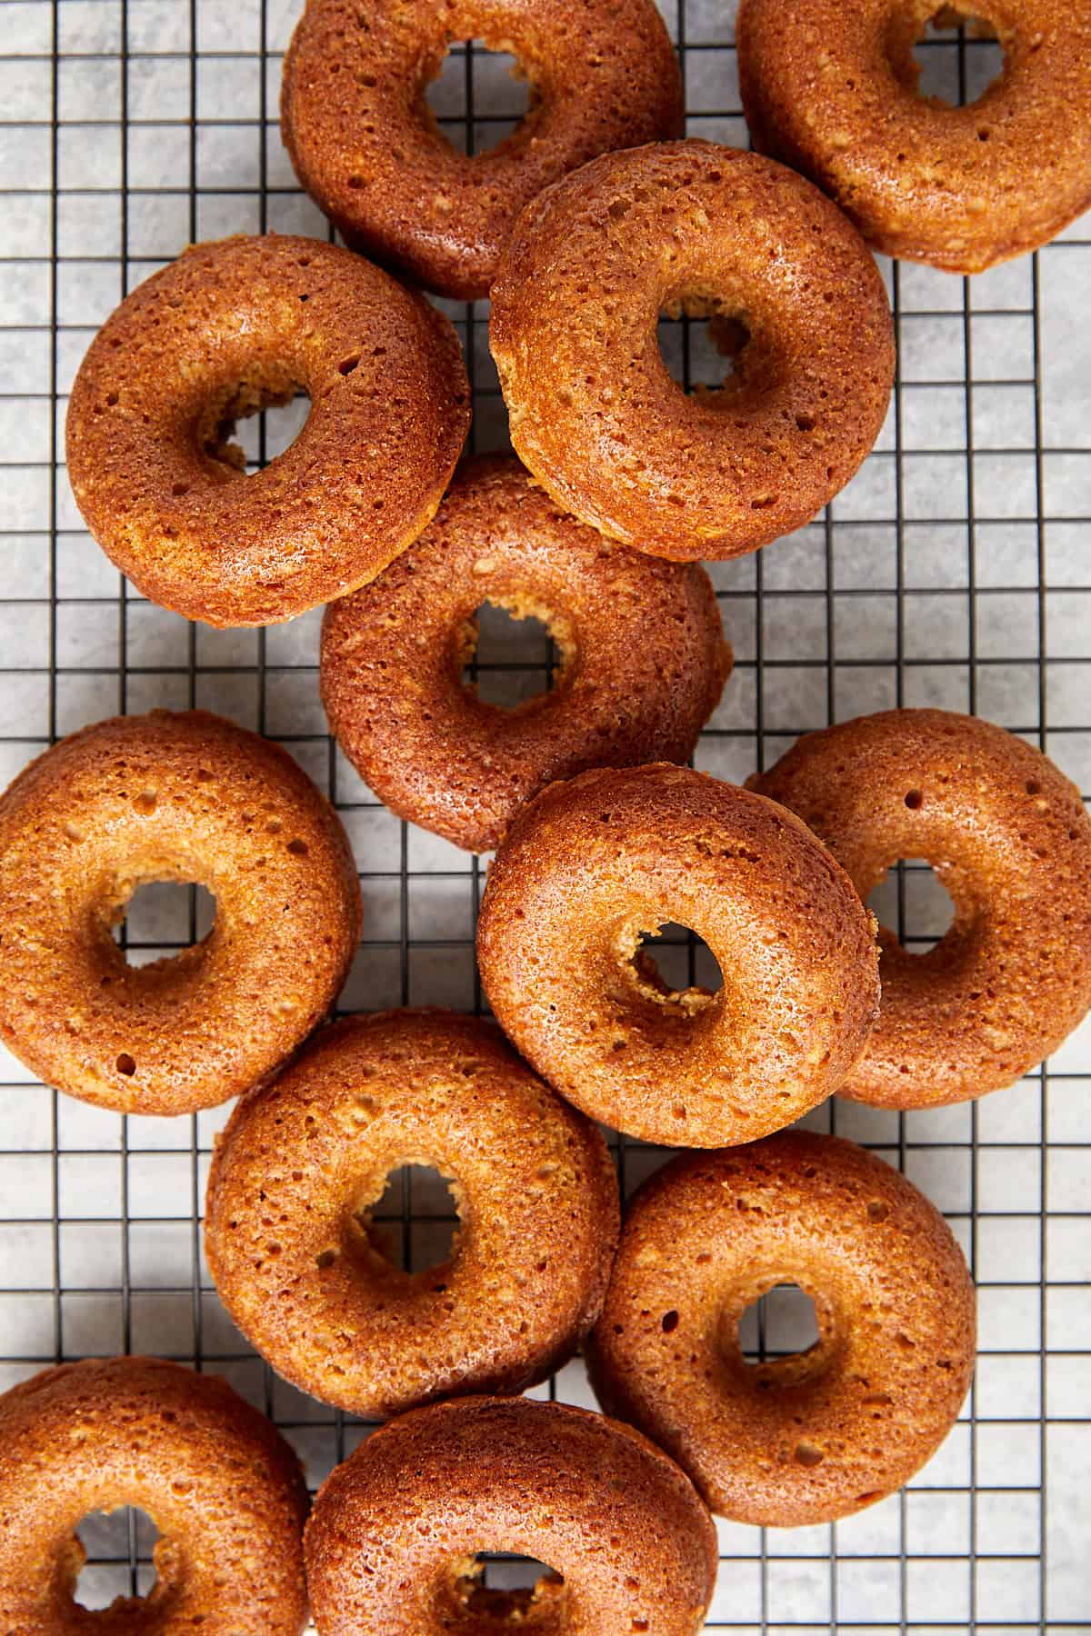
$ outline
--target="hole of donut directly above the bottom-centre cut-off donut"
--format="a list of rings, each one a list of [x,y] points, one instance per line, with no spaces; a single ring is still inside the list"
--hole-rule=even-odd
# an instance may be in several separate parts
[[[347,1224],[348,1252],[378,1276],[429,1278],[458,1253],[461,1216],[458,1183],[432,1165],[409,1163],[391,1170],[383,1186],[357,1198]],[[329,1256],[326,1260],[324,1256]],[[324,1252],[319,1265],[332,1265]]]

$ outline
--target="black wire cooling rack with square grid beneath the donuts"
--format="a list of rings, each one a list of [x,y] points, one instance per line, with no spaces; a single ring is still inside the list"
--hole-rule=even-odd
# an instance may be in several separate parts
[[[298,10],[299,0],[0,5],[0,775],[118,710],[221,710],[285,743],[348,828],[366,921],[345,1009],[471,1009],[483,867],[399,823],[332,746],[317,700],[319,615],[213,631],[152,607],[83,532],[64,473],[74,371],[128,290],[193,239],[326,236],[276,128]],[[679,0],[677,11],[667,0],[690,134],[743,146],[731,13],[726,0]],[[932,88],[970,100],[996,47],[937,34],[921,57]],[[465,47],[432,101],[469,149],[522,111],[507,64]],[[1088,227],[975,280],[908,263],[885,276],[900,340],[887,425],[823,517],[713,569],[736,671],[695,761],[741,780],[800,731],[932,703],[1022,733],[1088,790]],[[487,309],[445,309],[474,383],[474,445],[504,447]],[[666,326],[662,345],[682,381],[705,375],[700,327]],[[250,463],[285,447],[304,412],[247,422]],[[476,669],[489,697],[546,685],[548,664],[546,640],[486,620]],[[900,867],[883,893],[883,916],[906,942],[942,933],[945,898],[927,869]],[[129,957],[170,952],[206,923],[195,892],[147,888],[126,923]],[[705,951],[671,936],[664,972],[707,975]],[[317,1484],[366,1428],[278,1381],[211,1289],[200,1212],[226,1111],[119,1119],[29,1083],[10,1057],[0,1078],[0,1387],[64,1358],[173,1356],[227,1376],[272,1414]],[[833,1103],[806,1121],[875,1148],[945,1211],[978,1281],[977,1384],[903,1494],[836,1526],[721,1523],[710,1629],[1091,1629],[1089,1119],[1084,1026],[1040,1072],[977,1106],[898,1116]],[[620,1144],[625,1186],[661,1158]],[[450,1232],[442,1183],[402,1173],[386,1206],[404,1260],[435,1258]],[[806,1345],[806,1302],[774,1292],[746,1338],[765,1353]],[[540,1392],[592,1402],[579,1363]],[[92,1518],[82,1533],[92,1562],[80,1600],[101,1607],[147,1589],[152,1535],[139,1517]],[[491,1572],[502,1582],[505,1569]]]

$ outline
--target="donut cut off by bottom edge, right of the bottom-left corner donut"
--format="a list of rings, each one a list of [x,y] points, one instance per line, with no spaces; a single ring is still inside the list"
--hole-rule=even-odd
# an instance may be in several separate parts
[[[708,1512],[666,1454],[528,1397],[383,1427],[322,1484],[304,1549],[319,1636],[695,1636],[716,1577]],[[479,1551],[553,1572],[505,1595]]]

